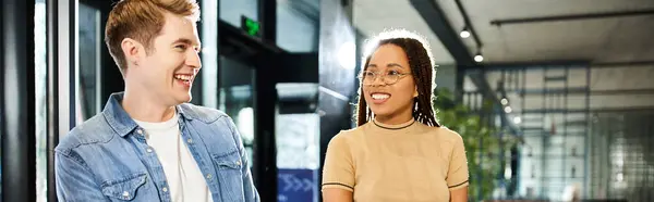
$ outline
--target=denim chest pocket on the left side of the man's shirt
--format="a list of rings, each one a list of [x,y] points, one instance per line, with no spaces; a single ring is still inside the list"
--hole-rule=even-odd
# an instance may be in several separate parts
[[[102,194],[111,201],[132,201],[136,197],[138,188],[145,185],[146,174],[134,174],[124,178],[108,180],[100,186]]]

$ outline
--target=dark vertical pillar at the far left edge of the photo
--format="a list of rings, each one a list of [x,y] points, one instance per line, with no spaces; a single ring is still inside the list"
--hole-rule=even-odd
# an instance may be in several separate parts
[[[2,201],[36,201],[35,1],[2,4]]]

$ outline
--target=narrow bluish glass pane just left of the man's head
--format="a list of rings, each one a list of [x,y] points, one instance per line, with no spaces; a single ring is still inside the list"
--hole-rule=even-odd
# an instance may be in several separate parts
[[[80,3],[78,123],[100,111],[100,11]]]

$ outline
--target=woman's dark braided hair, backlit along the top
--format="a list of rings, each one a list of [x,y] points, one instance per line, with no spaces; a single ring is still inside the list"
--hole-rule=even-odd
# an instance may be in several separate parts
[[[372,54],[383,45],[395,45],[407,53],[413,81],[417,87],[417,97],[413,99],[413,118],[427,126],[440,127],[436,121],[433,108],[435,65],[432,60],[428,43],[423,37],[403,29],[384,31],[370,41],[361,73],[366,71]],[[363,80],[360,77],[359,104],[356,105],[356,125],[361,126],[373,118],[373,112],[363,97]]]

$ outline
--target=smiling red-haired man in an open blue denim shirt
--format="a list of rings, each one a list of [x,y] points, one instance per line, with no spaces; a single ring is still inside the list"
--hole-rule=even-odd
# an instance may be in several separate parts
[[[105,41],[125,81],[56,149],[60,201],[259,201],[225,113],[189,104],[201,68],[194,0],[122,0]]]

